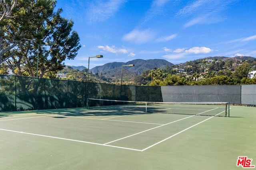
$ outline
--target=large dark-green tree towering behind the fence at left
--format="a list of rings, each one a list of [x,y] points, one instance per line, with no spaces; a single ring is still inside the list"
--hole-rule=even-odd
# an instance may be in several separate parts
[[[36,76],[39,59],[39,76],[55,78],[65,67],[63,61],[76,57],[81,45],[78,33],[72,31],[74,22],[60,16],[62,9],[54,12],[55,7],[56,0],[19,0],[13,17],[0,22],[4,49],[0,63],[6,61],[14,74]],[[48,41],[56,44],[46,46]]]

